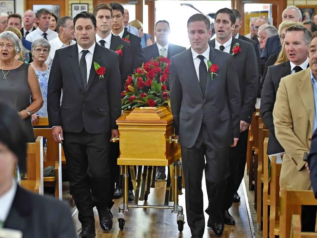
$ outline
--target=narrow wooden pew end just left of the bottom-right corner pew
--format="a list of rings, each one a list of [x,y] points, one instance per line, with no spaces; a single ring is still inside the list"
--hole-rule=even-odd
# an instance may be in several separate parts
[[[270,237],[279,236],[279,175],[281,167],[282,164],[278,164],[277,158],[273,156],[270,171]]]

